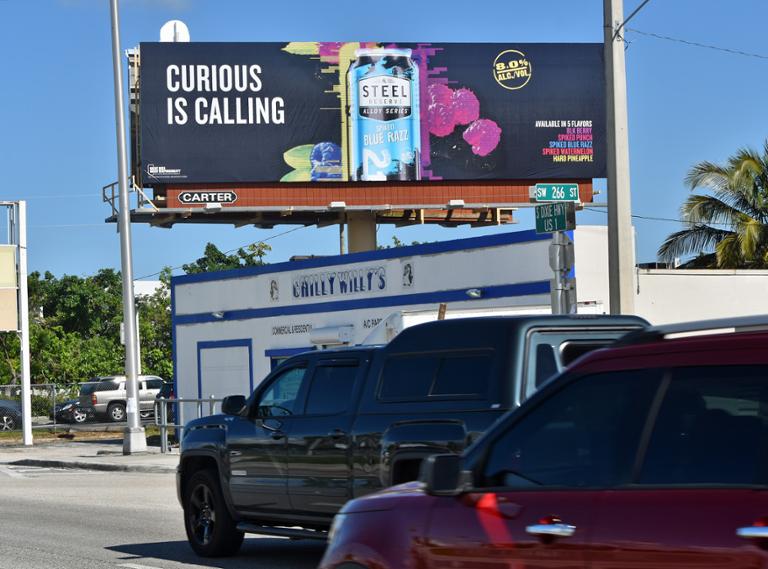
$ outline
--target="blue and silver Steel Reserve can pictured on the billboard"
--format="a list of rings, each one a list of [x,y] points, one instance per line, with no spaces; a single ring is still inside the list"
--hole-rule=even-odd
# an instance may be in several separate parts
[[[410,49],[358,49],[347,76],[349,178],[420,180],[419,68]]]

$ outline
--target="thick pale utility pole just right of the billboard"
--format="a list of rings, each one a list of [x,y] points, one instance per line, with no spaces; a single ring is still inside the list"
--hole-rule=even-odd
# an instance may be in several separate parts
[[[603,9],[608,119],[608,292],[611,314],[632,314],[635,249],[629,187],[627,73],[624,39],[615,34],[624,17],[623,0],[604,0]]]

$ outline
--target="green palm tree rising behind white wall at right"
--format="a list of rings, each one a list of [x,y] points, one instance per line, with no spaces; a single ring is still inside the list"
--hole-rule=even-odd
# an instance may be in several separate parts
[[[762,153],[743,148],[725,166],[700,162],[685,178],[692,195],[680,208],[687,229],[673,233],[658,255],[671,262],[696,255],[692,268],[768,268],[768,139]]]

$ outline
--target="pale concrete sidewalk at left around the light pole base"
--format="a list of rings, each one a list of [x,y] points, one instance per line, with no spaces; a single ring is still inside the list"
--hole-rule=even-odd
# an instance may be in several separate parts
[[[158,447],[148,446],[146,452],[124,455],[122,440],[0,446],[0,464],[18,466],[170,474],[178,463],[178,449],[162,454]]]

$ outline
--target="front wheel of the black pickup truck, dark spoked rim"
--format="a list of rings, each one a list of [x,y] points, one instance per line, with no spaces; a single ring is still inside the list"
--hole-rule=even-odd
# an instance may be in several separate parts
[[[227,511],[216,473],[195,472],[184,495],[184,529],[192,549],[201,557],[237,553],[244,534]]]

